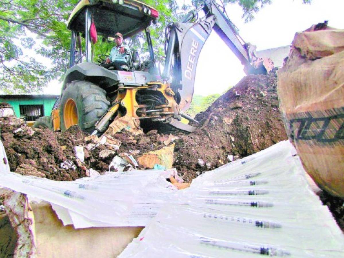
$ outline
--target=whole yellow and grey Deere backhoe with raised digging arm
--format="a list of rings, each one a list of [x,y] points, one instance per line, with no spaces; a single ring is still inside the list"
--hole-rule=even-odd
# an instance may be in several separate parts
[[[195,127],[181,119],[197,122],[185,112],[193,96],[198,57],[212,30],[239,58],[247,74],[266,73],[273,67],[271,59],[256,56],[255,46],[244,42],[225,11],[207,0],[166,28],[165,64],[160,73],[150,36],[150,26],[158,23],[158,17],[157,10],[137,0],[80,1],[67,23],[71,48],[60,99],[51,117],[41,117],[34,127],[65,131],[78,124],[83,131],[99,135],[111,121],[130,116],[192,132]],[[128,38],[144,31],[149,61],[144,68],[135,65],[138,54],[134,52],[128,54],[123,71],[96,64],[92,60],[91,25],[103,38],[116,32]]]

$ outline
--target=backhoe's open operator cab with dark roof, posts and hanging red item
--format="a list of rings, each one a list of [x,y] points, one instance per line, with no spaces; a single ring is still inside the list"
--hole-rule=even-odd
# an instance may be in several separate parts
[[[115,43],[111,42],[116,32],[123,39],[141,31],[146,32],[149,57],[154,64],[154,53],[148,26],[156,23],[159,13],[147,4],[136,0],[82,0],[69,16],[67,28],[72,31],[69,68],[83,61],[101,64]],[[83,39],[82,39],[83,38]],[[101,44],[92,44],[101,40]],[[84,48],[84,51],[83,51]],[[139,53],[131,49],[128,54],[127,71],[142,70]],[[110,68],[111,69],[111,68]]]

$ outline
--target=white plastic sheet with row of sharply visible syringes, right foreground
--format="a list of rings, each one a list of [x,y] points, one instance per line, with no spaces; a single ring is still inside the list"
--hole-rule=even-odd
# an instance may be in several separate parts
[[[294,154],[285,141],[205,172],[119,257],[344,257],[343,233]]]

